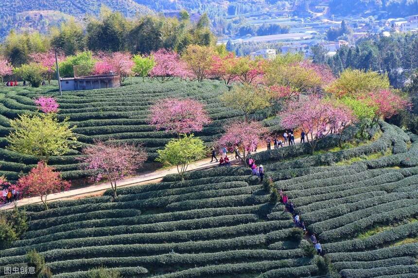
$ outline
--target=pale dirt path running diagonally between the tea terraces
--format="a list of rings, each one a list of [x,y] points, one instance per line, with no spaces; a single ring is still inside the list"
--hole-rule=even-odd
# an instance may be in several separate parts
[[[296,144],[300,142],[300,138],[295,138]],[[272,142],[273,143],[273,142]],[[273,144],[272,144],[273,145]],[[288,146],[288,145],[286,145]],[[274,146],[271,146],[272,148]],[[267,147],[258,147],[257,151],[264,151],[267,150]],[[235,158],[233,158],[234,155],[228,154],[228,157],[231,160],[231,163],[233,165],[238,165]],[[218,156],[219,159],[219,156]],[[203,160],[199,160],[197,162],[194,162],[189,165],[188,172],[194,171],[194,170],[201,170],[201,169],[208,169],[212,168],[214,166],[217,166],[218,163],[216,161],[210,162],[210,158],[206,158]],[[145,183],[155,183],[162,180],[162,178],[168,174],[176,174],[177,168],[171,167],[171,168],[165,168],[165,169],[158,169],[156,171],[151,171],[148,173],[144,173],[139,176],[134,176],[125,180],[121,180],[118,182],[118,188],[126,187],[126,186],[133,186],[133,185],[140,185]],[[101,196],[103,195],[104,191],[110,188],[109,182],[104,183],[95,183],[86,187],[72,189],[69,191],[59,192],[48,195],[48,201],[52,200],[58,200],[58,199],[76,199],[81,197],[87,197],[87,196]],[[12,209],[15,205],[17,207],[27,205],[27,204],[33,204],[33,203],[40,203],[41,199],[40,197],[29,197],[29,198],[23,198],[16,202],[10,203],[10,204],[2,204],[0,206],[1,210],[7,210]]]

